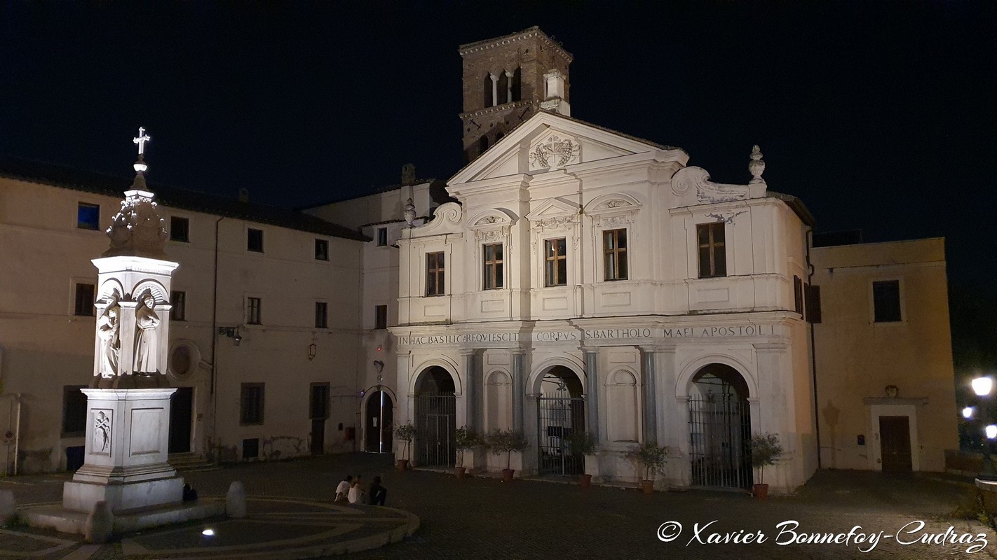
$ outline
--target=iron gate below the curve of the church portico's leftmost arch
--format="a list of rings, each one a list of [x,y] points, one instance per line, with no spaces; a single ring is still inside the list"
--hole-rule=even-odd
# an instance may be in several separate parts
[[[456,458],[457,397],[453,394],[416,398],[416,444],[422,467],[453,467]]]

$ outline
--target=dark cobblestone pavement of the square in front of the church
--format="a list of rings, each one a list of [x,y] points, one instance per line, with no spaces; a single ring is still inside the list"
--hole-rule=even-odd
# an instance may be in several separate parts
[[[403,542],[349,555],[360,560],[997,558],[994,531],[953,515],[972,492],[970,484],[956,478],[825,470],[796,495],[759,501],[733,492],[643,494],[628,488],[580,488],[539,480],[516,479],[510,484],[481,476],[458,480],[444,472],[396,472],[387,457],[359,454],[183,475],[201,495],[222,495],[231,480],[242,480],[251,497],[328,502],[347,473],[362,473],[368,481],[380,474],[388,488],[388,505],[421,519],[420,529]],[[55,501],[65,478],[21,476],[0,482],[0,488],[12,488],[19,505]],[[845,540],[849,531],[858,533],[861,542],[855,536]],[[23,534],[24,529],[15,532]],[[764,542],[757,542],[759,532]],[[794,535],[804,538],[814,533],[841,536],[836,544],[785,544]],[[144,538],[150,542],[168,538],[157,536],[161,535],[157,531],[147,534]],[[711,534],[741,542],[709,543]],[[743,542],[749,534],[756,535],[756,542]],[[0,543],[8,538],[0,533]],[[901,544],[925,538],[936,542]],[[958,542],[960,538],[963,542]],[[66,551],[80,553],[74,560],[142,557],[130,555],[122,543],[85,549],[78,539],[69,540],[72,546],[51,557],[62,557]],[[84,555],[85,551],[90,552]]]

